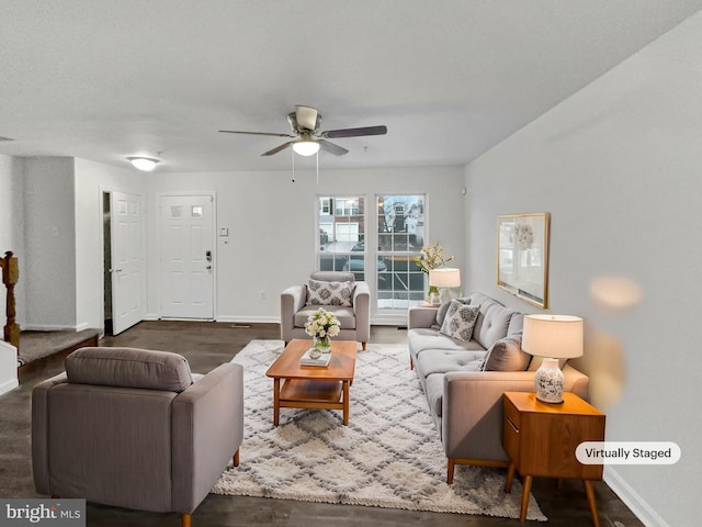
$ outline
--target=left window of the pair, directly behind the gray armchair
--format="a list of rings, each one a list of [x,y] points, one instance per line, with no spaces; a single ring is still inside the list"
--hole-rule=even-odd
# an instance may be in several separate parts
[[[363,197],[320,197],[317,209],[319,270],[351,271],[356,280],[365,280]]]

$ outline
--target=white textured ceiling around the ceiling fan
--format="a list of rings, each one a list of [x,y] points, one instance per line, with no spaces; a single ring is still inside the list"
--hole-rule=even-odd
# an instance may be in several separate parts
[[[702,0],[0,0],[0,154],[160,171],[288,169],[295,104],[325,168],[465,165]],[[366,148],[367,147],[367,148]],[[309,159],[296,158],[305,167]],[[297,165],[299,164],[299,165]]]

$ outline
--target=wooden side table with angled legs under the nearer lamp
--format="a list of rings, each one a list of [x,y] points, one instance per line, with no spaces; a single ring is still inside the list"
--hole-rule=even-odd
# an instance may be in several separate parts
[[[564,393],[563,400],[548,404],[532,392],[505,392],[502,445],[510,458],[505,492],[510,492],[518,471],[524,480],[519,516],[524,522],[533,476],[582,480],[599,527],[592,481],[602,479],[602,466],[580,463],[575,450],[582,441],[604,440],[604,414],[573,393]]]

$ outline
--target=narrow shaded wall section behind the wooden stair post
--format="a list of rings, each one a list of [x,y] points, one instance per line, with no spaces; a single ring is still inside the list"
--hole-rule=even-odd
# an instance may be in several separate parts
[[[73,158],[25,159],[25,329],[76,326]]]

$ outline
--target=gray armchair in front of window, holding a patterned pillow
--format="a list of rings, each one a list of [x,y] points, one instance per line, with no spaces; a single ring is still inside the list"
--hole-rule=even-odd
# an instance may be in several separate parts
[[[317,271],[309,276],[304,285],[293,285],[281,293],[281,338],[285,344],[293,338],[310,338],[305,333],[305,323],[310,313],[324,307],[332,312],[341,324],[339,340],[356,340],[363,349],[371,336],[371,291],[369,284],[355,281],[352,272]],[[350,296],[351,305],[315,304],[308,289],[314,282],[353,282]]]

